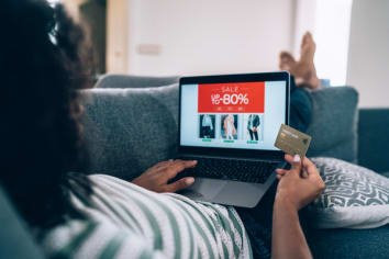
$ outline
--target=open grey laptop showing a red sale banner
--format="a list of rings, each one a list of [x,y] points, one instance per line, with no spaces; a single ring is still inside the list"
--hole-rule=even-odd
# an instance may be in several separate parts
[[[179,81],[176,158],[198,160],[181,194],[197,201],[254,207],[286,165],[274,146],[289,125],[286,71],[184,77]]]

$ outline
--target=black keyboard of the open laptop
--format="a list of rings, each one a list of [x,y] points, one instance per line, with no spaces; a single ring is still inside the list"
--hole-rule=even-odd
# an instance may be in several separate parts
[[[276,161],[233,160],[204,157],[185,157],[181,159],[197,160],[198,164],[194,168],[189,168],[178,173],[179,178],[203,177],[255,183],[266,182],[278,165]]]

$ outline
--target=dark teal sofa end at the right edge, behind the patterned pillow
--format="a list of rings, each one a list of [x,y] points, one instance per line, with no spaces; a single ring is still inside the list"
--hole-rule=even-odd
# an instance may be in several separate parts
[[[359,110],[358,164],[389,172],[389,109]]]

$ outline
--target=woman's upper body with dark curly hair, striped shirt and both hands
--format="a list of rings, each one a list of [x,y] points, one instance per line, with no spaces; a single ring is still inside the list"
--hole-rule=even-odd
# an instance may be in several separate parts
[[[88,156],[77,90],[90,87],[92,75],[82,31],[43,0],[1,1],[0,26],[0,181],[47,257],[252,256],[233,207],[174,193],[193,179],[169,179],[196,161],[159,162],[133,183],[78,173]],[[307,158],[286,160],[292,168],[278,170],[273,256],[307,258],[297,212],[323,182]]]

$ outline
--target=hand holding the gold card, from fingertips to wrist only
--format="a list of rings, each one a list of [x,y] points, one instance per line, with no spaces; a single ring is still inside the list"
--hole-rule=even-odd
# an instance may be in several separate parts
[[[325,188],[314,164],[307,157],[302,162],[298,155],[285,156],[291,165],[290,170],[277,169],[280,180],[277,188],[276,201],[281,201],[299,211],[316,199]]]

